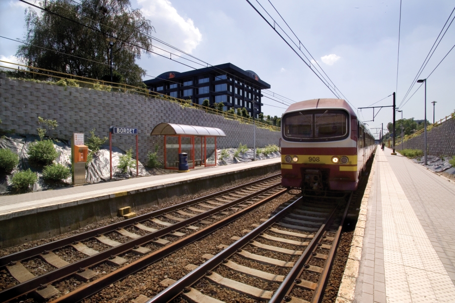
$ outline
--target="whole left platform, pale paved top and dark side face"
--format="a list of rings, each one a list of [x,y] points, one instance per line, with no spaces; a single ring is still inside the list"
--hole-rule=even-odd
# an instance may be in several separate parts
[[[121,207],[142,209],[184,194],[279,172],[281,157],[179,174],[132,178],[63,189],[0,196],[0,248],[62,234],[113,218]],[[18,229],[18,227],[21,227]]]

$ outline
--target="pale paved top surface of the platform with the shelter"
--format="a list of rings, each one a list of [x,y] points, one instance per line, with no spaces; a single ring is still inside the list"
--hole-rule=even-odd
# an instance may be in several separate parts
[[[21,195],[0,196],[0,220],[8,219],[19,212],[25,214],[24,212],[34,213],[36,211],[51,210],[59,207],[59,205],[63,203],[65,203],[66,206],[71,206],[71,203],[77,203],[80,200],[89,202],[87,199],[109,198],[109,196],[115,196],[116,193],[128,192],[131,194],[134,193],[134,191],[141,191],[142,189],[152,186],[222,175],[236,170],[250,169],[279,162],[281,162],[281,158],[273,158],[247,163],[207,167],[204,169],[191,170],[190,172],[183,174],[141,177]]]

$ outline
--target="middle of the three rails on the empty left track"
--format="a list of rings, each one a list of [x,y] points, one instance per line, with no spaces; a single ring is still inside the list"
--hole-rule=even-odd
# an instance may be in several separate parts
[[[181,228],[186,227],[186,225],[195,224],[199,220],[203,220],[217,212],[230,208],[231,206],[234,206],[235,204],[238,204],[245,200],[254,198],[257,195],[260,195],[266,191],[269,191],[271,189],[274,189],[274,188],[280,187],[280,186],[281,186],[280,183],[271,185],[265,189],[261,189],[261,190],[255,192],[255,193],[246,195],[237,200],[234,200],[234,201],[225,203],[223,205],[220,205],[216,208],[207,210],[206,212],[196,214],[194,217],[191,217],[184,221],[177,222],[171,226],[167,226],[162,229],[159,229],[156,232],[151,232],[151,233],[141,236],[139,238],[132,239],[132,240],[122,243],[118,246],[114,246],[109,249],[100,251],[99,253],[94,254],[92,256],[87,256],[83,259],[80,259],[79,261],[70,263],[64,267],[55,269],[51,272],[42,274],[33,279],[30,279],[25,282],[11,286],[9,288],[6,288],[6,289],[0,291],[0,298],[2,298],[2,300],[5,302],[15,299],[21,295],[24,295],[28,292],[31,292],[31,291],[37,289],[38,287],[40,287],[42,285],[47,285],[47,284],[53,283],[55,281],[58,281],[60,279],[63,279],[65,277],[71,276],[72,274],[78,272],[80,269],[86,269],[88,267],[92,267],[101,262],[107,261],[111,256],[117,256],[119,254],[125,253],[125,252],[133,249],[136,246],[141,246],[141,245],[147,244],[147,243],[153,241],[155,238],[159,238],[159,237],[162,237],[169,233],[173,233],[175,230],[179,230]],[[181,205],[179,208],[181,208]]]

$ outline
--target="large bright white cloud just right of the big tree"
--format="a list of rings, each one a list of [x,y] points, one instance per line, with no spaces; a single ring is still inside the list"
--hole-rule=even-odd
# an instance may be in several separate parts
[[[191,53],[202,41],[202,34],[193,20],[180,16],[169,0],[138,0],[138,3],[142,6],[144,17],[150,19],[155,27],[156,36],[163,41],[187,53]],[[157,49],[155,51],[158,52]]]

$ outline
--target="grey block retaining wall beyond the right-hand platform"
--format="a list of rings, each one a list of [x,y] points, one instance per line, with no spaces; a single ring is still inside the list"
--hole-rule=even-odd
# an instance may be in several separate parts
[[[428,154],[434,156],[455,156],[455,119],[448,119],[427,132]],[[424,134],[403,142],[396,142],[396,150],[411,148],[424,150]]]

